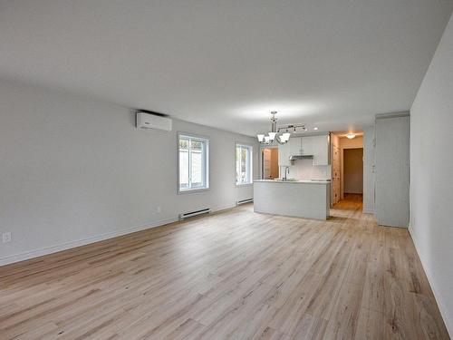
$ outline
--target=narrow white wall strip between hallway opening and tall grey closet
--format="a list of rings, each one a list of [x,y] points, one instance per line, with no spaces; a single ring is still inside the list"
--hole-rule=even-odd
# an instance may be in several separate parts
[[[374,126],[363,131],[363,212],[374,213]]]

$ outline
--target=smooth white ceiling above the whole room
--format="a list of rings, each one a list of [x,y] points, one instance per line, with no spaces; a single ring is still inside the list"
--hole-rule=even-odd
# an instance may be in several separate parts
[[[254,134],[410,109],[452,0],[0,0],[0,78]]]

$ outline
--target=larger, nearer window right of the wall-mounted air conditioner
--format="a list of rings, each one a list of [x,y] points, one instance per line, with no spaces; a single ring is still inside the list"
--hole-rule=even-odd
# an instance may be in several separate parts
[[[178,191],[209,188],[209,141],[196,136],[178,135]]]

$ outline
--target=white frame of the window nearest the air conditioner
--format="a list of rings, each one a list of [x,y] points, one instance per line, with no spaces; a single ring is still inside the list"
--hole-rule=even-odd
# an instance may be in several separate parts
[[[180,183],[179,183],[179,140],[181,139],[188,139],[190,141],[201,141],[204,144],[204,150],[202,151],[203,154],[203,160],[204,160],[204,167],[203,167],[203,174],[204,174],[204,186],[203,187],[196,187],[196,188],[191,188],[190,186],[190,178],[191,178],[191,166],[190,166],[190,151],[189,151],[189,156],[188,156],[188,182],[189,182],[189,187],[188,189],[181,189],[180,188]],[[203,136],[198,136],[193,133],[186,133],[186,132],[178,132],[178,138],[177,138],[177,191],[178,194],[183,194],[183,193],[188,193],[188,192],[197,192],[197,191],[206,191],[209,189],[209,140],[207,137]]]

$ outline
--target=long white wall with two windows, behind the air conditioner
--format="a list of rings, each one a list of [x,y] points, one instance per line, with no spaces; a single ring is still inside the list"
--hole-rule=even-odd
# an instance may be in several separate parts
[[[71,248],[193,209],[251,198],[236,188],[235,142],[254,138],[186,121],[171,132],[135,128],[129,109],[0,82],[0,264]],[[177,194],[177,131],[209,138],[210,189]],[[161,207],[161,212],[157,208]]]

